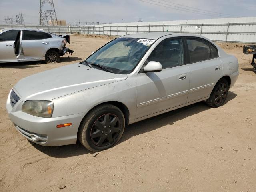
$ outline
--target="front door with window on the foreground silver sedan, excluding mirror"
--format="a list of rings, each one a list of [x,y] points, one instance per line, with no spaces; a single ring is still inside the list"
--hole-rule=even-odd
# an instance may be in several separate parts
[[[136,118],[186,104],[190,71],[184,65],[182,38],[160,42],[147,62],[162,64],[160,72],[140,72],[136,77]]]

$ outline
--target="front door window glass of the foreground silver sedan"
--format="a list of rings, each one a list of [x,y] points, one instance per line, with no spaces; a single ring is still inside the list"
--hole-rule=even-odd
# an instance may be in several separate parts
[[[148,62],[156,61],[162,64],[163,69],[184,64],[182,39],[165,39],[148,57]]]

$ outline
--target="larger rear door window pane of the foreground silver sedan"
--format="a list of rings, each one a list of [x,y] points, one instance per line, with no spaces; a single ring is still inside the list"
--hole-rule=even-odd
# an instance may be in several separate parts
[[[200,62],[211,58],[209,42],[201,39],[187,39],[190,63]]]

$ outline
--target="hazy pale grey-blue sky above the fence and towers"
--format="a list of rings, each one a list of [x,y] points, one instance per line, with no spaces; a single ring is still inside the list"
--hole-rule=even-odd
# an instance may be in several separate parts
[[[256,16],[256,0],[54,0],[57,19],[69,23],[120,23]],[[156,5],[158,4],[158,5]],[[178,5],[181,4],[181,5]],[[160,5],[160,6],[159,6]],[[0,24],[22,13],[39,23],[40,0],[0,0]],[[46,3],[44,9],[50,6]],[[224,15],[225,14],[225,15]]]

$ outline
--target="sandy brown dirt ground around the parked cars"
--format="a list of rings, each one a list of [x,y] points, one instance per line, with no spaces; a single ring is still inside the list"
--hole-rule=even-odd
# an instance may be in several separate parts
[[[96,157],[79,144],[32,145],[16,131],[5,103],[18,80],[80,62],[109,40],[72,36],[75,53],[58,64],[0,64],[0,191],[255,192],[256,74],[238,44],[220,43],[240,62],[224,106],[200,102],[131,124]]]

